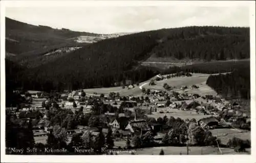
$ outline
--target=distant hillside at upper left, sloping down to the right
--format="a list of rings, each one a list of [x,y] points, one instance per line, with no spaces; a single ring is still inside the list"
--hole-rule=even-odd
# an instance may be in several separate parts
[[[52,29],[44,25],[31,25],[6,17],[6,52],[20,55],[51,49],[54,46],[74,44],[69,38],[81,35],[95,36],[97,34],[74,32],[68,29]]]

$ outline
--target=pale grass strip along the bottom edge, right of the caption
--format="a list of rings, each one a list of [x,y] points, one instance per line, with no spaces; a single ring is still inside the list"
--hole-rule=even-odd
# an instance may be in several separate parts
[[[164,155],[186,155],[186,147],[153,147],[153,148],[143,148],[142,150],[137,150],[135,154],[139,155],[159,155],[161,149],[164,151]],[[206,154],[220,154],[217,147],[189,147],[189,155],[206,155]],[[233,149],[221,148],[222,154],[250,154],[250,149],[246,149],[248,153],[236,153]]]

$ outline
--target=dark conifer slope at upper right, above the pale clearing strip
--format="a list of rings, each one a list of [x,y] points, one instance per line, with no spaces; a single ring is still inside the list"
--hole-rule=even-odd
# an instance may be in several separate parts
[[[250,56],[249,29],[220,27],[191,27],[177,29],[178,36],[168,36],[152,54],[179,60],[244,59]]]

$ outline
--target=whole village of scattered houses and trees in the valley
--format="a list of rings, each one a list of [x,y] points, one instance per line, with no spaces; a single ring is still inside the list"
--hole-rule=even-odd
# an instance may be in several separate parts
[[[184,79],[191,76],[190,73],[178,75]],[[175,77],[177,76],[157,75],[150,80],[147,87],[156,85],[160,80],[164,82]],[[74,135],[82,137],[89,132],[94,139],[101,132],[107,137],[111,129],[114,142],[112,148],[117,149],[128,148],[127,146],[143,147],[134,144],[131,139],[136,136],[143,137],[148,131],[152,141],[158,143],[158,146],[164,146],[166,135],[170,129],[175,128],[173,125],[177,122],[173,123],[174,121],[182,121],[188,125],[194,123],[201,128],[207,128],[213,137],[223,138],[221,142],[224,144],[228,143],[225,138],[227,134],[250,136],[250,115],[240,110],[240,104],[230,103],[219,95],[189,93],[188,90],[191,92],[200,89],[200,84],[176,87],[164,83],[162,89],[130,84],[122,89],[132,90],[135,87],[141,89],[138,96],[121,96],[119,92],[88,94],[84,90],[50,94],[27,91],[22,94],[28,101],[27,104],[7,109],[21,125],[24,121],[31,121],[35,143],[41,144],[47,144],[55,121],[60,121],[61,127],[65,128],[67,144],[72,142]],[[65,120],[56,119],[60,112],[68,114]],[[147,146],[150,147],[148,144],[145,147]]]

